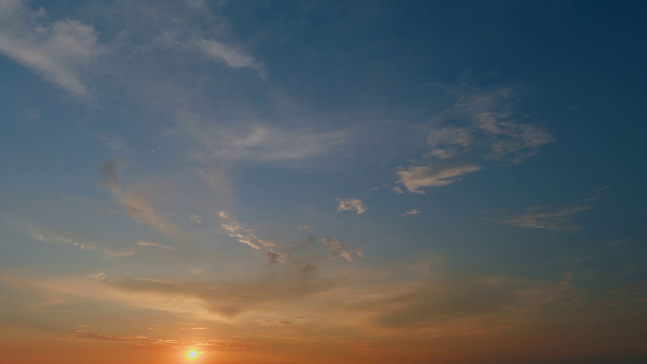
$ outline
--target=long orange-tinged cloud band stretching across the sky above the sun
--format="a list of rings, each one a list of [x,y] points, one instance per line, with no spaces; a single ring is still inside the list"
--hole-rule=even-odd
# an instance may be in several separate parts
[[[336,243],[333,243],[333,245]],[[343,249],[343,248],[342,248]],[[125,307],[163,311],[182,319],[226,323],[223,329],[275,337],[254,331],[254,323],[283,326],[308,317],[312,339],[337,337],[338,330],[356,337],[376,334],[415,336],[470,335],[516,326],[549,305],[564,302],[578,290],[573,274],[558,282],[505,275],[441,274],[433,262],[403,262],[397,266],[336,266],[282,264],[264,277],[226,280],[159,280],[111,277],[105,280],[16,279],[3,284],[47,301],[91,300]],[[302,270],[300,272],[300,270]],[[301,273],[301,274],[300,274]],[[316,273],[316,274],[313,274]],[[291,308],[285,312],[286,304]],[[281,319],[293,317],[294,319]],[[210,325],[200,324],[207,327]],[[261,325],[263,326],[263,325]],[[291,329],[290,329],[291,330]],[[331,331],[332,330],[332,331]],[[302,331],[285,332],[298,337]],[[327,334],[331,333],[332,334]],[[106,339],[106,338],[100,338]],[[115,337],[107,338],[120,341]]]

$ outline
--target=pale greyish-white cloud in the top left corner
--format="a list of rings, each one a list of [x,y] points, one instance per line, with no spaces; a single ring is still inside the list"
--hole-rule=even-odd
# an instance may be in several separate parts
[[[89,97],[83,71],[104,52],[98,32],[80,21],[43,20],[45,10],[22,1],[0,3],[0,52],[80,98]]]

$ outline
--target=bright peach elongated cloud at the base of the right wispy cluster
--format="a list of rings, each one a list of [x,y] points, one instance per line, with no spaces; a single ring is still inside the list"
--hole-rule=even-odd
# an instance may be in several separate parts
[[[480,166],[475,165],[411,166],[397,172],[400,176],[397,183],[404,185],[409,192],[424,194],[420,188],[450,185],[460,181],[460,176],[480,169]]]

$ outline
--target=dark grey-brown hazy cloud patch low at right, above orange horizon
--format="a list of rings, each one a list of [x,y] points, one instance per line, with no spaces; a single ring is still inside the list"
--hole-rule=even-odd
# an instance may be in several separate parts
[[[353,309],[375,312],[375,324],[384,328],[424,328],[433,332],[433,326],[438,324],[444,334],[452,330],[459,330],[457,334],[487,332],[514,326],[521,317],[542,312],[548,304],[564,300],[570,289],[558,282],[447,275],[386,297],[356,302]],[[472,328],[464,326],[466,318],[474,325]]]

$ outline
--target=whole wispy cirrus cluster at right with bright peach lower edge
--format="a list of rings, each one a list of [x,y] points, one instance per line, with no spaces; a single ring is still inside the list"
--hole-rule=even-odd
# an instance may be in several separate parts
[[[463,85],[459,100],[432,117],[428,152],[397,170],[397,183],[422,194],[421,188],[450,185],[488,163],[518,164],[536,154],[554,137],[514,110],[516,97],[512,87],[480,91]]]

